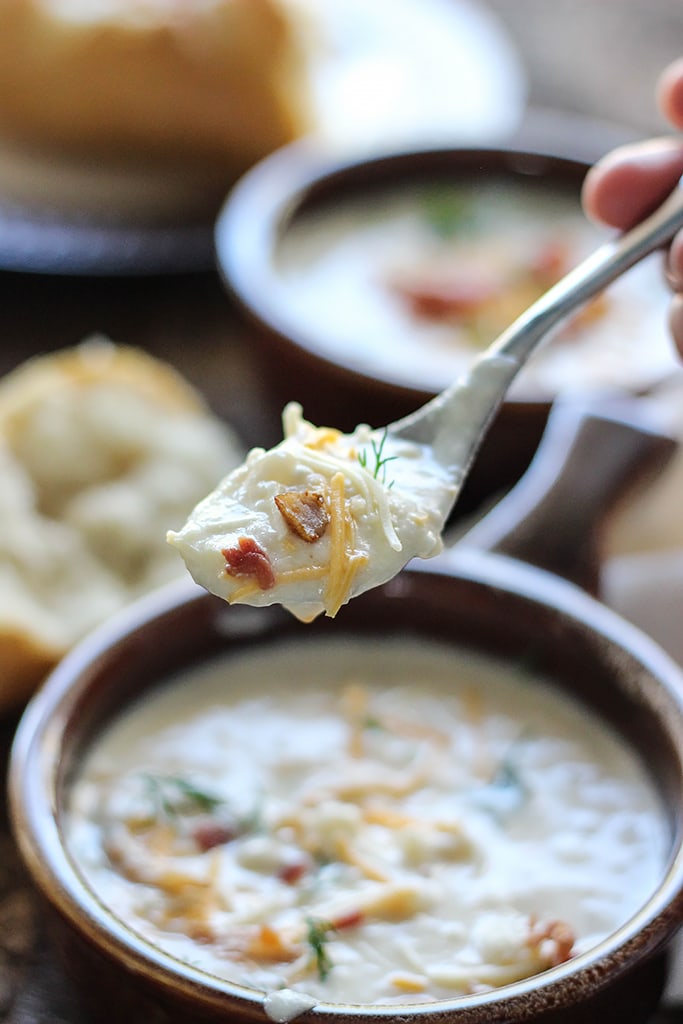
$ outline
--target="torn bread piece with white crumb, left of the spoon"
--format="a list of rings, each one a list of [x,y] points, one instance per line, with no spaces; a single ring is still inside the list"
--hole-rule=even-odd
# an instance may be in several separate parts
[[[166,530],[243,455],[171,367],[103,339],[0,382],[0,710],[184,573]]]

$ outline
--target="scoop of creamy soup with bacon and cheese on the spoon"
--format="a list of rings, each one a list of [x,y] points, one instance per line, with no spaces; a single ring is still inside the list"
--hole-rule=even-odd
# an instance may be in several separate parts
[[[496,368],[488,376],[496,382]],[[336,615],[411,558],[438,554],[458,477],[427,445],[367,425],[351,434],[314,427],[296,402],[284,427],[280,444],[252,449],[168,532],[197,583],[309,622]]]

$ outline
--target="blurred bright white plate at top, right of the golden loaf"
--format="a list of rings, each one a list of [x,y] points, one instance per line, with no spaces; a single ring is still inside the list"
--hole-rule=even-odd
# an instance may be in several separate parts
[[[294,2],[319,12],[326,0]],[[519,124],[520,59],[495,15],[473,0],[344,0],[324,9],[312,77],[324,143],[353,155],[469,145]]]

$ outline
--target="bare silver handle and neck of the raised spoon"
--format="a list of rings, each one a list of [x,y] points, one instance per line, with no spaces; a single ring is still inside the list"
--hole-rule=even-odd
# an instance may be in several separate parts
[[[449,472],[456,495],[513,380],[537,346],[570,313],[683,227],[683,178],[660,207],[603,244],[541,296],[463,377],[415,413],[389,424],[391,437],[427,445]]]

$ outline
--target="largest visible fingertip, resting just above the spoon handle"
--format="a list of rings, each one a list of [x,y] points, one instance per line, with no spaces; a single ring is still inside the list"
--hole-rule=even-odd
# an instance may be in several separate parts
[[[651,213],[683,175],[683,140],[621,146],[590,169],[582,201],[589,217],[622,229]]]

